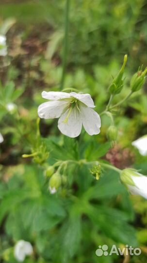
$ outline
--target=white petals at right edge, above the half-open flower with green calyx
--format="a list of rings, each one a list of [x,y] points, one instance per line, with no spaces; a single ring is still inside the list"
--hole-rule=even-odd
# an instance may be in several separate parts
[[[132,145],[139,150],[141,155],[143,156],[147,155],[147,135],[132,142]]]

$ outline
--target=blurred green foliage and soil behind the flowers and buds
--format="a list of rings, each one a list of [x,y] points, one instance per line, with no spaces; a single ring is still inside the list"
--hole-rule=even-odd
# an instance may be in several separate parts
[[[107,116],[102,117],[101,133],[90,141],[84,133],[76,140],[64,137],[56,120],[41,121],[42,138],[38,137],[41,92],[58,91],[61,81],[64,9],[64,0],[0,1],[0,29],[6,33],[9,50],[8,57],[0,57],[0,132],[4,136],[0,262],[4,263],[16,263],[13,250],[20,239],[34,248],[25,263],[121,263],[123,257],[115,255],[96,257],[98,245],[147,244],[147,203],[130,196],[116,172],[102,170],[96,181],[89,167],[73,162],[66,166],[66,184],[56,195],[49,193],[45,170],[56,160],[102,158],[120,169],[134,167],[147,174],[147,158],[131,146],[147,134],[146,86],[114,113],[118,129],[114,147],[107,141]],[[112,75],[125,54],[129,56],[125,85],[114,103],[128,94],[131,75],[141,64],[146,66],[146,10],[144,0],[71,1],[65,87],[90,93],[98,113],[105,109]],[[17,109],[10,113],[7,104],[12,102]],[[39,154],[22,158],[31,151]],[[132,257],[130,263],[145,262],[146,254],[145,250],[140,257]]]

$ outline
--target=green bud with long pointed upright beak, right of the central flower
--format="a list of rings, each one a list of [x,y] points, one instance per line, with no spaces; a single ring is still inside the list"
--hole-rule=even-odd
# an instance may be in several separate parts
[[[122,79],[124,74],[124,69],[127,63],[128,56],[124,56],[124,63],[118,73],[118,75],[114,78],[112,84],[109,87],[110,94],[119,94],[123,88],[124,80]]]

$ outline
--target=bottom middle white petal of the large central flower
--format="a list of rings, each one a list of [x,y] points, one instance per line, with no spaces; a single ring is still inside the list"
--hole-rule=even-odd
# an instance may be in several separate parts
[[[75,138],[79,136],[82,130],[81,114],[76,107],[71,110],[70,115],[68,116],[69,111],[70,109],[61,115],[58,121],[58,128],[66,136]]]

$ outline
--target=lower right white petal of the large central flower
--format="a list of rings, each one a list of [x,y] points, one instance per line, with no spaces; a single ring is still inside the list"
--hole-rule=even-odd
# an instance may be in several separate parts
[[[100,132],[101,121],[98,113],[93,109],[80,105],[82,115],[82,125],[89,135]]]

